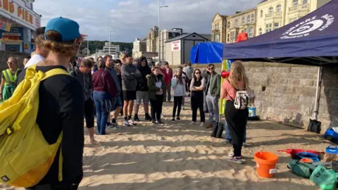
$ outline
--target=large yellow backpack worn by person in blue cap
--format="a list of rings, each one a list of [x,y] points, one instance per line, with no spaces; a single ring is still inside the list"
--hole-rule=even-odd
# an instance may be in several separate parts
[[[55,144],[48,144],[37,125],[39,84],[48,77],[69,74],[60,68],[45,73],[35,68],[36,65],[27,68],[13,96],[0,104],[0,184],[36,185],[49,171],[61,144],[62,132]],[[59,181],[62,163],[61,152]]]

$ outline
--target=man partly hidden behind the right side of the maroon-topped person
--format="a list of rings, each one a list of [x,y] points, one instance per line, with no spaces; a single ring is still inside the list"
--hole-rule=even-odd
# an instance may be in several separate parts
[[[121,87],[120,82],[118,80],[118,75],[116,74],[115,68],[113,68],[113,56],[107,55],[104,56],[104,60],[106,63],[106,70],[108,70],[109,73],[111,73],[111,77],[113,77],[113,80],[115,82],[116,86],[116,99],[111,100],[111,111],[114,111],[113,119],[111,121],[111,113],[108,113],[108,120],[107,120],[107,128],[111,129],[118,129],[118,123],[116,122],[116,118],[118,118],[118,114],[120,114],[120,111],[122,109],[122,100],[121,100]]]

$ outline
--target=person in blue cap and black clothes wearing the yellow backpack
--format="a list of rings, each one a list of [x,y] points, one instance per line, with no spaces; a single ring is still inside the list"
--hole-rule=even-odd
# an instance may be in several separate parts
[[[66,71],[82,41],[79,25],[74,20],[62,17],[49,20],[44,35],[38,37],[36,42],[49,54],[44,61],[37,63],[36,70],[47,72],[61,68]],[[23,77],[25,74],[21,75],[21,80]],[[27,189],[77,189],[83,177],[84,96],[82,86],[75,77],[54,75],[41,82],[37,124],[49,144],[55,143],[63,132],[62,151],[58,151],[46,176]],[[60,153],[63,156],[61,181],[58,179]]]

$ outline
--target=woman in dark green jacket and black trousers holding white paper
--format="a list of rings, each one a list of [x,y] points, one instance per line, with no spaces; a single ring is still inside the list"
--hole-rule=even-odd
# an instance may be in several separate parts
[[[160,74],[161,69],[154,67],[151,69],[151,75],[146,75],[149,87],[149,100],[151,104],[151,118],[153,125],[163,124],[161,120],[163,106],[163,92],[165,90],[164,76]],[[155,115],[156,114],[156,115]],[[156,116],[156,120],[155,120]]]

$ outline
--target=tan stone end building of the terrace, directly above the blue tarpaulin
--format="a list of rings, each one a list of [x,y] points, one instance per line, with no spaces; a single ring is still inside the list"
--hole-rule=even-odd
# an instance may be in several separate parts
[[[216,13],[211,23],[211,41],[225,43],[227,30],[227,15]]]

